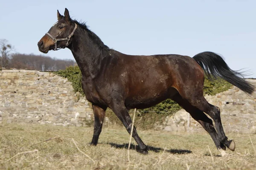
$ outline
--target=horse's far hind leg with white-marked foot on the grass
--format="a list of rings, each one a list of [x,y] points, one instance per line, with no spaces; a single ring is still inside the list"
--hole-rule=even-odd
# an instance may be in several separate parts
[[[221,156],[226,155],[226,147],[224,144],[222,144],[219,139],[218,139],[218,134],[212,124],[212,120],[209,119],[204,112],[200,111],[198,108],[195,108],[192,106],[187,100],[182,99],[180,94],[176,94],[175,96],[172,97],[172,100],[177,102],[182,108],[184,108],[190,115],[192,116],[193,119],[195,119],[197,122],[199,122],[204,129],[209,133],[209,135],[212,137],[212,140],[221,153]]]

